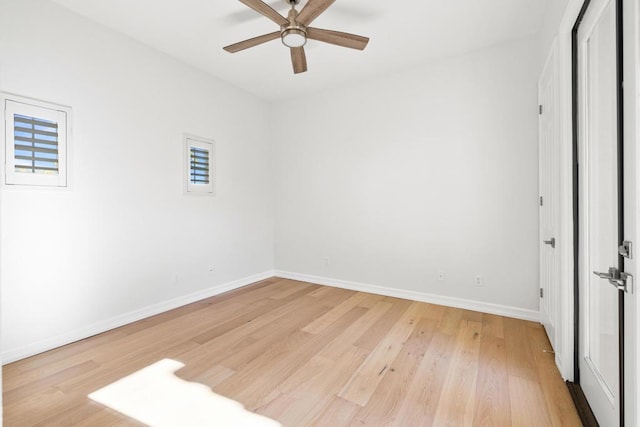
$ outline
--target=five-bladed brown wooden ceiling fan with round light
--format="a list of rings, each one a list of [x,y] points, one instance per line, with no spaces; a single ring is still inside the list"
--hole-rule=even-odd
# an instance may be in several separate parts
[[[358,50],[364,50],[367,47],[367,43],[369,43],[368,37],[309,27],[313,20],[327,10],[336,0],[309,0],[300,12],[296,10],[296,5],[300,3],[300,0],[285,1],[291,5],[287,18],[280,15],[262,0],[240,0],[241,3],[278,24],[280,31],[244,40],[226,46],[223,49],[230,53],[236,53],[280,38],[282,43],[291,49],[293,72],[298,74],[307,71],[307,57],[304,53],[304,45],[307,43],[307,39]]]

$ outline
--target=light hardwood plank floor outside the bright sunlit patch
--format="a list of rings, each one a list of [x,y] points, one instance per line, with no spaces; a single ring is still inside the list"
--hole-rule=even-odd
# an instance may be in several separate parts
[[[4,425],[127,426],[87,395],[158,360],[284,426],[580,426],[532,322],[284,279],[4,367]]]

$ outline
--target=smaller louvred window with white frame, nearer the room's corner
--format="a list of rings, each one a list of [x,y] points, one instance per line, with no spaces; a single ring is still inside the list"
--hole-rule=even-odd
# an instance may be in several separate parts
[[[185,136],[186,192],[213,194],[213,141]]]

